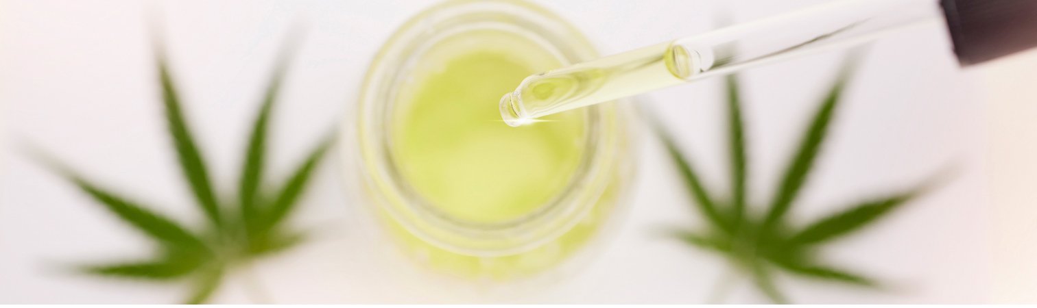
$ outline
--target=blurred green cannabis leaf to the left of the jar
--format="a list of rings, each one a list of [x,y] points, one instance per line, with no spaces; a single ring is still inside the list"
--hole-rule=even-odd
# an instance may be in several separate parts
[[[264,182],[263,164],[271,109],[284,72],[285,58],[281,57],[282,60],[278,61],[256,115],[245,152],[236,204],[221,202],[215,192],[205,159],[184,117],[179,95],[166,61],[161,56],[158,59],[169,133],[180,171],[199,210],[204,214],[205,221],[200,223],[204,225],[202,229],[191,229],[188,225],[198,224],[184,224],[166,217],[151,210],[151,207],[102,188],[56,160],[50,161],[56,171],[97,204],[155,242],[153,258],[84,266],[81,270],[89,274],[122,278],[188,280],[192,292],[185,302],[203,303],[229,272],[246,268],[261,256],[291,248],[305,239],[304,232],[286,227],[284,221],[296,209],[313,170],[331,145],[331,138],[325,138],[316,146],[272,193],[259,188]]]

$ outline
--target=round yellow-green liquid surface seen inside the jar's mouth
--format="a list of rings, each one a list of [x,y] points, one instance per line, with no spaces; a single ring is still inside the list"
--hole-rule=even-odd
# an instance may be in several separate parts
[[[573,178],[585,151],[584,112],[513,128],[500,93],[559,67],[536,42],[500,30],[454,34],[415,62],[399,89],[391,150],[403,181],[457,220],[498,223],[535,212]]]

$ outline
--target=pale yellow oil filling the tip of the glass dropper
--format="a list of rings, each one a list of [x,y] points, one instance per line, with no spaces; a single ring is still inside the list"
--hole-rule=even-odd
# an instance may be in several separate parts
[[[709,61],[703,61],[709,60]],[[686,82],[704,70],[695,51],[670,42],[654,44],[526,78],[500,101],[510,126],[536,118]]]

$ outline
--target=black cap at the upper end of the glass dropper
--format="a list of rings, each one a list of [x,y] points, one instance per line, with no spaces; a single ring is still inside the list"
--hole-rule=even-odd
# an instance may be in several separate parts
[[[1037,0],[941,0],[941,5],[961,65],[1037,47]]]

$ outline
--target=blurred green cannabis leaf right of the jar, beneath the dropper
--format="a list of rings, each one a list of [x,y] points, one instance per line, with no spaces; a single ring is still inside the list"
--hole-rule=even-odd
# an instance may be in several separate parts
[[[786,221],[786,214],[810,177],[833,115],[839,106],[849,70],[849,66],[844,69],[815,112],[801,137],[798,149],[785,167],[784,176],[768,202],[764,215],[753,215],[748,211],[751,204],[747,193],[750,172],[741,99],[735,76],[729,76],[726,83],[730,192],[707,189],[699,179],[694,164],[680,152],[672,136],[662,127],[655,126],[655,131],[676,164],[694,204],[708,223],[705,230],[678,227],[672,229],[670,235],[684,243],[720,253],[739,272],[751,277],[757,288],[775,303],[788,302],[775,284],[772,273],[776,271],[856,285],[875,285],[870,277],[822,263],[816,256],[817,249],[876,221],[930,187],[919,185],[914,189],[850,204],[842,212],[803,227],[792,227]],[[729,195],[729,199],[718,197],[725,194]]]

